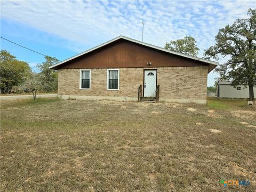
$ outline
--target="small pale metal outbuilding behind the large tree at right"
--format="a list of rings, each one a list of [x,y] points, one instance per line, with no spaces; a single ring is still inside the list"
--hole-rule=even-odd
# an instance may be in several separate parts
[[[230,85],[229,81],[219,81],[217,86],[218,98],[250,98],[249,87],[244,85],[237,85],[236,87]],[[254,95],[256,95],[256,86],[253,87]]]

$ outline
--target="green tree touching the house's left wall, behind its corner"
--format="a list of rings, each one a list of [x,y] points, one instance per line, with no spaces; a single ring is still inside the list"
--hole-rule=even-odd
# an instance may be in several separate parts
[[[58,90],[58,71],[49,69],[58,62],[57,58],[45,57],[45,61],[37,65],[40,70],[39,78],[43,85],[43,92],[56,92]]]

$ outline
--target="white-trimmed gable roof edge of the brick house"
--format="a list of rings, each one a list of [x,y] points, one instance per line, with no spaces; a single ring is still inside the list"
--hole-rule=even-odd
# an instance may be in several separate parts
[[[137,44],[140,44],[140,45],[143,45],[143,46],[146,46],[146,47],[150,47],[150,48],[153,48],[155,50],[159,50],[159,51],[163,51],[163,52],[166,52],[166,53],[171,53],[173,55],[178,55],[178,56],[183,57],[183,58],[188,58],[188,59],[192,59],[192,60],[196,60],[196,61],[201,61],[201,62],[207,63],[207,64],[210,65],[208,73],[210,73],[210,71],[212,69],[214,69],[218,65],[218,62],[215,62],[215,61],[210,61],[210,60],[207,60],[207,59],[202,59],[202,58],[193,57],[193,56],[190,56],[190,55],[187,55],[187,54],[178,53],[178,52],[175,52],[175,51],[170,51],[170,50],[164,49],[162,47],[151,45],[151,44],[144,43],[144,42],[141,42],[141,41],[137,41],[137,40],[129,38],[129,37],[118,36],[118,37],[116,37],[114,39],[111,39],[110,41],[108,41],[106,43],[102,43],[102,44],[100,44],[98,46],[93,47],[92,49],[89,49],[87,51],[79,53],[79,54],[77,54],[77,55],[75,55],[73,57],[70,57],[70,58],[66,59],[66,60],[63,60],[63,61],[61,61],[61,62],[51,66],[50,69],[58,69],[61,65],[63,65],[64,63],[66,63],[68,61],[76,59],[76,58],[78,58],[78,57],[80,57],[82,55],[85,55],[85,54],[90,53],[90,52],[92,52],[94,50],[97,50],[97,49],[99,49],[99,48],[101,48],[103,46],[106,46],[106,45],[110,44],[110,43],[118,41],[119,39],[125,39],[126,41],[130,41],[130,42],[137,43]]]

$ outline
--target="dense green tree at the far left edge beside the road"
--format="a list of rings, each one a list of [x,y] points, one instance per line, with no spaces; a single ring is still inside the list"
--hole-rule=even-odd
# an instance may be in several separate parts
[[[19,61],[6,50],[1,50],[1,93],[10,93],[13,86],[23,82],[23,76],[27,76],[31,69],[27,62]]]

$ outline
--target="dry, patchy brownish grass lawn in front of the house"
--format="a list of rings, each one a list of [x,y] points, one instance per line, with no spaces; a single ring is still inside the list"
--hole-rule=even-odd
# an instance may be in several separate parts
[[[255,117],[213,98],[1,101],[1,191],[256,191]]]

